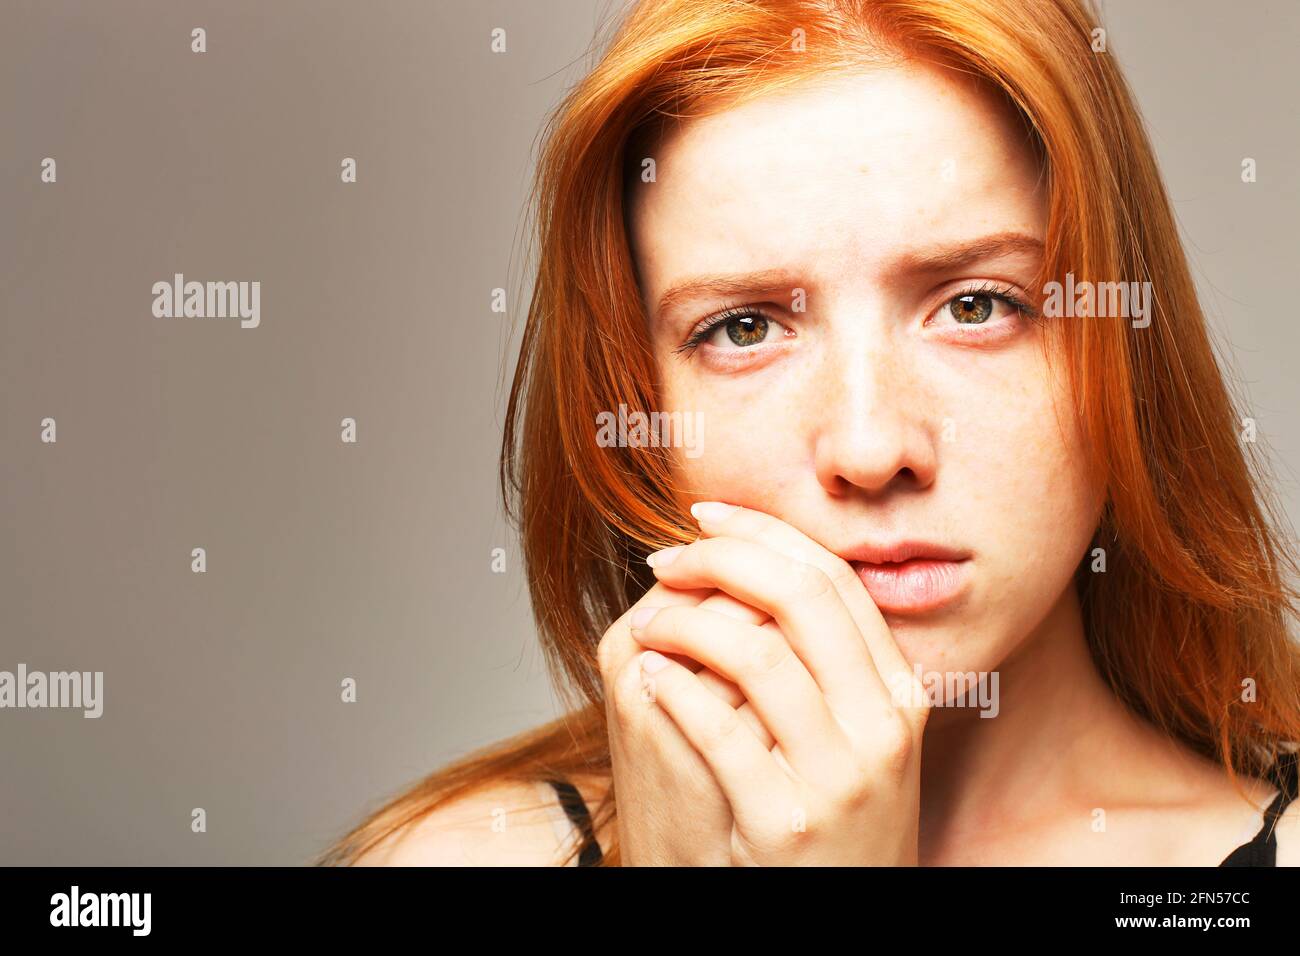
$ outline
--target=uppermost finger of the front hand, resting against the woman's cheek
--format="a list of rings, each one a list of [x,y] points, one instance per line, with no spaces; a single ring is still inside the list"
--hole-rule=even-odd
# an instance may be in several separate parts
[[[835,584],[845,606],[858,624],[867,645],[871,663],[887,687],[894,687],[897,674],[913,674],[902,650],[898,649],[884,615],[871,600],[862,579],[853,566],[829,549],[822,546],[798,528],[763,511],[725,505],[716,501],[696,502],[690,514],[699,523],[706,537],[729,536],[754,541],[781,551],[788,557],[819,567]]]

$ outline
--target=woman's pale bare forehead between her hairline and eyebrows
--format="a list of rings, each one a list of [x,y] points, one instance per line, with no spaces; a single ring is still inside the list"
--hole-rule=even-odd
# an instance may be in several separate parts
[[[1041,234],[1027,133],[963,74],[924,64],[801,85],[672,130],[630,204],[647,300],[685,274],[866,274],[900,250]]]

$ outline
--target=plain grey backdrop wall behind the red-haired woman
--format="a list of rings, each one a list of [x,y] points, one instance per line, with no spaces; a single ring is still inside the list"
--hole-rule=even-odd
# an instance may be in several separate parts
[[[495,464],[534,140],[620,5],[0,4],[0,670],[105,674],[0,711],[0,862],[302,862],[558,713]],[[1294,520],[1300,4],[1102,9]],[[261,326],[155,319],[174,272]]]

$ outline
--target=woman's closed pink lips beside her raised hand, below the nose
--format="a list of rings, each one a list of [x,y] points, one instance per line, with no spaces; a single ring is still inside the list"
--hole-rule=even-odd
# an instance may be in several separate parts
[[[864,546],[846,555],[884,614],[923,614],[953,604],[970,585],[970,554],[924,541]]]

